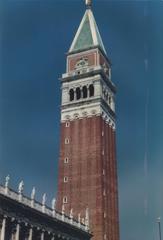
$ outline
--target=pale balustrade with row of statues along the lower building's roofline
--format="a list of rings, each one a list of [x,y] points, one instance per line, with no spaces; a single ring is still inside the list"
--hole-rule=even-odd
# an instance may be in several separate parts
[[[14,191],[9,187],[10,177],[6,177],[6,181],[4,185],[0,184],[0,198],[6,199],[6,201],[12,201],[15,204],[18,204],[22,208],[29,208],[34,210],[38,214],[42,214],[45,218],[50,217],[54,221],[59,221],[61,223],[66,223],[71,225],[70,227],[75,227],[76,229],[80,229],[81,231],[89,233],[89,226],[87,225],[86,219],[74,219],[72,211],[70,215],[66,215],[64,212],[64,205],[62,207],[62,212],[56,211],[55,198],[52,200],[52,206],[48,207],[46,205],[46,194],[42,197],[42,202],[38,202],[35,200],[35,188],[32,189],[31,196],[27,197],[23,194],[24,191],[24,183],[21,181],[18,185],[18,191]],[[3,208],[3,206],[1,206]],[[3,210],[3,209],[0,209]]]

